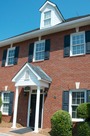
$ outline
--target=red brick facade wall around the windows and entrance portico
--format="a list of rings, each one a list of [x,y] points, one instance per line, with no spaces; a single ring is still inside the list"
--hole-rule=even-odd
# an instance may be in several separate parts
[[[84,30],[90,30],[90,26],[80,28],[80,31]],[[75,82],[80,82],[80,88],[90,89],[90,55],[63,57],[64,36],[74,32],[75,29],[72,29],[43,36],[42,39],[51,39],[50,59],[32,63],[40,66],[52,78],[48,96],[44,103],[44,128],[50,127],[51,116],[56,110],[62,108],[63,90],[75,89]],[[8,85],[9,90],[15,91],[14,83],[11,80],[28,61],[29,44],[37,40],[38,38],[16,43],[14,46],[20,46],[18,65],[10,67],[1,67],[3,50],[9,46],[0,48],[0,90],[4,90],[4,87]],[[22,88],[19,91],[18,122],[25,126],[28,95],[23,96]]]

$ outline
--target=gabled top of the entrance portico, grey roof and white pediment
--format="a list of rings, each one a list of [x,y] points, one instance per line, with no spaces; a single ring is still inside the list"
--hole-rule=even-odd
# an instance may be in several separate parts
[[[34,86],[39,82],[49,84],[52,82],[52,79],[39,66],[26,63],[14,76],[12,82],[15,82],[16,86]]]

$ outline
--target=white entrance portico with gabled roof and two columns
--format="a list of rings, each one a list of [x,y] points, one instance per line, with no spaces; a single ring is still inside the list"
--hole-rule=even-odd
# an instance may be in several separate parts
[[[31,94],[32,94],[32,90],[34,89],[36,90],[34,131],[38,132],[41,90],[43,90],[42,92],[44,98],[44,90],[45,88],[49,88],[49,84],[51,83],[51,81],[52,81],[51,78],[40,67],[33,66],[32,64],[29,63],[26,63],[21,68],[21,70],[15,75],[15,77],[12,79],[12,82],[15,82],[15,87],[16,87],[12,128],[16,128],[19,87],[29,86],[30,90],[28,90],[29,100],[28,100],[28,111],[27,111],[27,127],[29,127],[29,123],[30,123],[30,105],[31,105],[31,97],[32,97]],[[42,115],[43,115],[43,110],[42,110]]]

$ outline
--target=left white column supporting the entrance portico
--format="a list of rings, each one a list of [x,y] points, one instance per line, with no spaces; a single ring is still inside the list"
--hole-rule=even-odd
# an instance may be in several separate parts
[[[15,95],[15,102],[14,102],[14,114],[13,114],[13,124],[12,128],[16,128],[17,122],[17,109],[18,109],[18,95],[19,95],[19,87],[16,87],[16,95]]]

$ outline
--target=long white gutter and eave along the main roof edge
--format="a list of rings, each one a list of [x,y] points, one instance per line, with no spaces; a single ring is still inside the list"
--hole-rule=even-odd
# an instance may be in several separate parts
[[[32,31],[32,32],[27,32],[26,34],[3,40],[0,42],[0,47],[4,47],[6,45],[14,44],[17,42],[22,42],[24,40],[28,40],[28,39],[36,38],[39,36],[44,36],[44,35],[60,32],[60,31],[64,31],[64,30],[68,30],[68,29],[72,29],[72,28],[76,28],[76,27],[81,27],[81,26],[85,26],[85,25],[90,25],[90,16],[84,17],[81,19],[77,19],[77,20],[73,20],[70,22],[64,22],[64,23],[61,23],[61,24],[58,24],[56,26],[52,26],[49,28],[39,29],[39,30]]]

